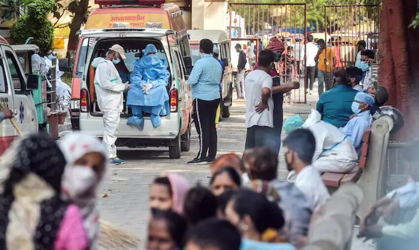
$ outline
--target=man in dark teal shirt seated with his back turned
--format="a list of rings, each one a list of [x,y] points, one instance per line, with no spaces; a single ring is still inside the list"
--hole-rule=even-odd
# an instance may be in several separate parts
[[[316,109],[321,114],[321,120],[336,127],[343,127],[353,114],[351,105],[358,92],[349,86],[345,69],[334,72],[334,82],[334,87],[320,96]]]

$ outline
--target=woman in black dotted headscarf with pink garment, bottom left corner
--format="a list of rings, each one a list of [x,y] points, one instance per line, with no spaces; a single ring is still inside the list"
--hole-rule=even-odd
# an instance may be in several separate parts
[[[60,197],[66,160],[44,134],[15,142],[0,162],[0,249],[85,250],[79,209]]]

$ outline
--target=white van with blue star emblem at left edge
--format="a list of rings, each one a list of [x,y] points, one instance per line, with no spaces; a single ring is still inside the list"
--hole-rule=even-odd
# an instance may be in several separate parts
[[[14,113],[24,134],[38,131],[35,102],[31,90],[38,88],[38,77],[25,75],[21,61],[8,42],[0,36],[0,101]],[[0,155],[19,136],[8,119],[0,123]]]

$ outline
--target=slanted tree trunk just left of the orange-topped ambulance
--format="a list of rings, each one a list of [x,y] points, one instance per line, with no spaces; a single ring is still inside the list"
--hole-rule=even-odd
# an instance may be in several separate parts
[[[77,31],[80,30],[84,22],[84,16],[89,8],[89,0],[80,0],[78,7],[75,9],[73,22],[71,23],[69,44],[67,45],[67,58],[70,62],[74,62],[74,56],[77,50],[78,35]]]

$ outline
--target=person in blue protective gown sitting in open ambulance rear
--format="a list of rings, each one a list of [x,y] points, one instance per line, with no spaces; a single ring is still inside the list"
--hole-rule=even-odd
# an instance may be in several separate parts
[[[131,90],[128,92],[127,105],[131,108],[133,116],[128,119],[127,125],[142,130],[142,112],[150,113],[153,127],[161,125],[160,115],[168,115],[170,112],[169,94],[166,90],[169,77],[167,64],[158,58],[156,46],[148,44],[144,56],[134,63],[134,71],[131,73]]]

